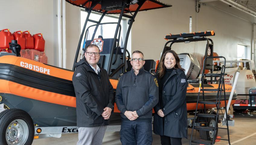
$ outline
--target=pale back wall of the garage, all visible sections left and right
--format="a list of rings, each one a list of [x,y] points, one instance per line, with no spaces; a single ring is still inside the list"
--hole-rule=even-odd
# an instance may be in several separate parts
[[[130,33],[132,51],[142,51],[146,59],[159,59],[166,42],[165,35],[189,32],[190,16],[193,17],[193,32],[216,32],[215,36],[209,37],[213,39],[214,52],[226,57],[227,60],[236,59],[238,43],[251,48],[251,23],[204,5],[201,5],[200,12],[196,13],[194,0],[161,2],[173,6],[139,12]],[[8,28],[11,32],[30,30],[31,34],[43,33],[48,63],[57,66],[57,1],[9,0],[0,1],[0,5],[0,29]],[[79,14],[79,7],[66,3],[67,69],[72,69],[80,38]],[[198,42],[197,45],[174,44],[173,50],[177,53],[192,53],[201,61],[205,52],[205,42]]]

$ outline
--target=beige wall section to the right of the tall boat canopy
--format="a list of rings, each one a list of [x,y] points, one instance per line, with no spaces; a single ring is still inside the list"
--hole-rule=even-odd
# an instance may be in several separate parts
[[[193,32],[207,30],[216,32],[215,36],[208,38],[213,39],[213,51],[217,52],[219,56],[222,55],[227,60],[235,60],[237,43],[248,45],[248,48],[251,49],[251,23],[203,5],[201,5],[200,12],[196,13],[194,0],[161,0],[161,2],[170,3],[173,6],[139,12],[133,24],[132,51],[142,51],[146,59],[159,60],[160,53],[167,42],[163,39],[165,35],[188,33],[190,16],[193,19]],[[223,3],[223,5],[225,4]],[[192,53],[201,62],[205,53],[205,44],[206,42],[198,42],[196,49],[194,42],[190,44],[179,43],[174,44],[172,50],[177,53]]]

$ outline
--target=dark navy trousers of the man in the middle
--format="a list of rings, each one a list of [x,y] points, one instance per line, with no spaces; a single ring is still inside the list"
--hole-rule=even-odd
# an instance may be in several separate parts
[[[122,145],[151,145],[151,122],[122,121],[120,140]]]

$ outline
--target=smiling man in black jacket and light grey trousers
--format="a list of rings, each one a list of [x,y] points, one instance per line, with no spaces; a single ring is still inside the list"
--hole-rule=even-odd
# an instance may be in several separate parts
[[[76,96],[77,145],[101,145],[114,110],[114,91],[107,71],[97,65],[97,45],[88,45],[85,58],[75,64],[72,77]]]

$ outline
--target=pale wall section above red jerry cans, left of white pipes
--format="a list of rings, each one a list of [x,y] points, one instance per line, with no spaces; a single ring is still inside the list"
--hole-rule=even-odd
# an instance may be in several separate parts
[[[0,29],[42,33],[48,64],[57,66],[57,2],[54,0],[0,1]]]

